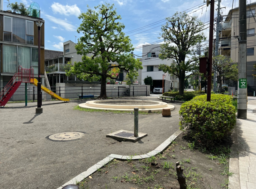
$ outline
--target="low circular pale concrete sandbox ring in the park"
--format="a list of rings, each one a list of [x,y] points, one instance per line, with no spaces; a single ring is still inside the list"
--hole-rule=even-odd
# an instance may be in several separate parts
[[[119,110],[119,111],[134,111],[134,108],[139,108],[139,111],[162,112],[163,108],[174,110],[174,106],[166,102],[147,101],[147,100],[93,100],[79,104],[80,108],[100,109],[100,110]]]

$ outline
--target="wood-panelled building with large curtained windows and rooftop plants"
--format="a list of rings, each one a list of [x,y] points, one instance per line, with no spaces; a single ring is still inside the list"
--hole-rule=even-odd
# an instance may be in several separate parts
[[[31,3],[26,11],[12,9],[12,4],[0,2],[0,87],[5,87],[22,68],[34,68],[34,78],[38,78],[38,27],[40,10]],[[41,26],[41,63],[44,62],[44,23]],[[44,64],[41,64],[44,82]]]

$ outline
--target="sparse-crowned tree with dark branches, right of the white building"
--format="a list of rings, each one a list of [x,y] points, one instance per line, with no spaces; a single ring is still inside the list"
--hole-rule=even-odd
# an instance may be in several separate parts
[[[202,32],[204,23],[186,12],[176,12],[173,17],[168,17],[166,20],[159,37],[164,39],[159,58],[174,59],[176,63],[170,66],[161,64],[160,69],[179,78],[179,93],[182,95],[185,81],[190,76],[189,73],[195,70],[195,62],[198,61],[192,47],[205,40]]]

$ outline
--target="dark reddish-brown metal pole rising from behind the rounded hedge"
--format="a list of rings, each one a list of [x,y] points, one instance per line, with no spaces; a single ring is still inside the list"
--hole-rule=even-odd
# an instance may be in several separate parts
[[[207,101],[211,101],[211,87],[212,87],[212,46],[213,46],[213,23],[214,20],[214,1],[211,1],[210,8],[210,29],[209,29],[209,64],[208,64],[208,81],[207,81]]]

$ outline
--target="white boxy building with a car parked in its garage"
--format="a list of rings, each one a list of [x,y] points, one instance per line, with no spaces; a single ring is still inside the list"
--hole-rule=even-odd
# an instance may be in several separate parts
[[[153,79],[153,87],[162,86],[163,85],[163,74],[164,72],[159,68],[160,64],[171,65],[171,60],[161,60],[158,56],[160,54],[160,44],[154,45],[143,45],[142,46],[142,58],[140,61],[142,62],[143,69],[139,74],[141,74],[141,83],[145,85],[144,79],[147,76],[152,77]],[[177,80],[177,78],[173,78]],[[166,73],[166,77],[164,78],[164,92],[167,92],[173,86],[173,79],[169,73]],[[152,89],[151,89],[152,90]]]

